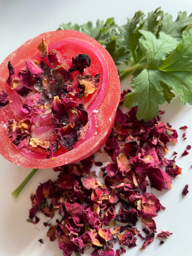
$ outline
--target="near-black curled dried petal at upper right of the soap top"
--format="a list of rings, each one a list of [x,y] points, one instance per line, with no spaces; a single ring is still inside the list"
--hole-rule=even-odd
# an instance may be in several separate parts
[[[78,54],[75,58],[72,57],[72,66],[68,72],[79,71],[81,74],[84,72],[84,68],[91,66],[91,58],[87,54]]]

